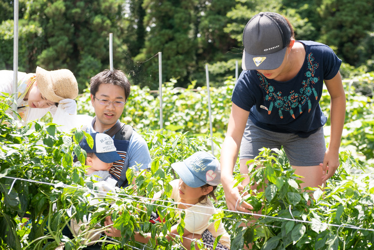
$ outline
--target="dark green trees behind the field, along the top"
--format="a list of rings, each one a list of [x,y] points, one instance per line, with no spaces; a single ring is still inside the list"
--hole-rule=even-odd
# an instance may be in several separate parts
[[[19,71],[68,68],[82,91],[109,68],[113,33],[114,68],[132,84],[157,89],[162,52],[163,81],[202,86],[209,64],[220,86],[241,63],[246,22],[261,11],[285,15],[297,39],[331,46],[347,65],[343,77],[374,70],[372,0],[20,0]],[[0,0],[0,21],[0,69],[12,70],[13,1]]]

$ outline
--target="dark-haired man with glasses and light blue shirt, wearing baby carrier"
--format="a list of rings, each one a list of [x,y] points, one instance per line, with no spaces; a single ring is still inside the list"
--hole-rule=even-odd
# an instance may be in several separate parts
[[[91,78],[91,103],[95,117],[87,128],[87,133],[106,133],[119,126],[119,117],[130,96],[130,82],[120,70],[104,70]],[[119,187],[128,186],[126,170],[129,167],[147,169],[150,167],[150,152],[144,138],[132,131],[130,140],[114,139],[114,146],[122,160],[113,163],[109,170],[118,181]]]

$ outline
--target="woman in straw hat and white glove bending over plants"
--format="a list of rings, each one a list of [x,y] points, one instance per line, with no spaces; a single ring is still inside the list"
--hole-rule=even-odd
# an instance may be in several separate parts
[[[0,92],[13,94],[13,84],[13,71],[0,70]],[[17,92],[17,112],[23,122],[48,112],[55,115],[57,106],[68,114],[76,114],[74,98],[78,95],[78,84],[68,69],[47,71],[37,67],[35,74],[18,72]]]

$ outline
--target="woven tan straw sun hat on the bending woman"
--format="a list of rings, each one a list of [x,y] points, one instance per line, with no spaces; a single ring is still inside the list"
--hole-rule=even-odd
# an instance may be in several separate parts
[[[37,67],[37,87],[48,100],[59,102],[62,99],[75,99],[78,96],[78,83],[68,69],[47,71]]]

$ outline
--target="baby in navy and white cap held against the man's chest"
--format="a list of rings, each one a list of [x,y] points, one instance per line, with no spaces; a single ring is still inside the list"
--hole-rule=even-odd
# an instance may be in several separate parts
[[[79,146],[87,153],[85,165],[86,176],[96,181],[106,181],[114,187],[117,183],[109,173],[113,162],[122,160],[122,157],[116,152],[114,142],[111,136],[103,133],[90,134],[93,138],[93,148],[91,148],[86,138],[79,143]]]

